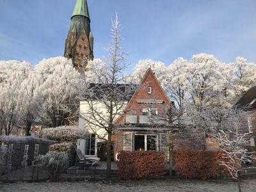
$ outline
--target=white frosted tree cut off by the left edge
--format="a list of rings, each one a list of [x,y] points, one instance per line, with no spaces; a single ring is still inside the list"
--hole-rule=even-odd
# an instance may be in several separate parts
[[[17,124],[20,84],[29,71],[31,66],[25,61],[0,61],[0,131],[4,129],[6,135]]]

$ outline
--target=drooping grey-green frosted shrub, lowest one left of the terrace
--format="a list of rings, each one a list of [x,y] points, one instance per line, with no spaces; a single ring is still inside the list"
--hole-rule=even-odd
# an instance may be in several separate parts
[[[55,177],[60,176],[68,168],[68,155],[65,152],[50,151],[45,156],[38,156],[37,161]]]

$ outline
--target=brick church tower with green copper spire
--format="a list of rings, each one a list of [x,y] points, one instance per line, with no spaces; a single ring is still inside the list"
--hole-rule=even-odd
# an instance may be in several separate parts
[[[77,0],[71,17],[65,44],[65,58],[72,59],[74,67],[84,71],[88,60],[93,60],[93,35],[86,0]]]

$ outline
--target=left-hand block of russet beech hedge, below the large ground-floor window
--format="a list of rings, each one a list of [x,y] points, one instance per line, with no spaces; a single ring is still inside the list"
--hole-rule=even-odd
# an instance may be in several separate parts
[[[122,151],[117,165],[120,179],[158,178],[166,173],[164,152]]]

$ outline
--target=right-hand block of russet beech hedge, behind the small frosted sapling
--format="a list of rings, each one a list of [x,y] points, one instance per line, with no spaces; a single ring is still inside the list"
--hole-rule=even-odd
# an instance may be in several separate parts
[[[221,151],[176,150],[176,174],[184,179],[218,178],[227,173],[224,166],[219,166]]]

